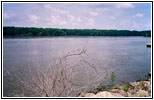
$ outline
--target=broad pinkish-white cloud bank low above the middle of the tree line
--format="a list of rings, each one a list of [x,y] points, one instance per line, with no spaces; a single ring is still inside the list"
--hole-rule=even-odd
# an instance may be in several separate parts
[[[70,28],[93,28],[95,26],[95,20],[89,17],[81,17],[74,15],[51,15],[49,18],[46,18],[48,25],[59,25],[62,27]]]

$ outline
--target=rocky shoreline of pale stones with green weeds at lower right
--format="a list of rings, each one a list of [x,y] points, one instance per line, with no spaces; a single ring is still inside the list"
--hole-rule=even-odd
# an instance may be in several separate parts
[[[96,93],[80,93],[79,97],[150,97],[151,96],[151,72],[147,79],[136,82],[118,84],[108,91],[99,87]]]

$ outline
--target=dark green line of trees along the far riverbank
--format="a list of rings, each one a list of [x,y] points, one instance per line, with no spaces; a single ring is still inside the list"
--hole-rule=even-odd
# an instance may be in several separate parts
[[[151,31],[98,30],[98,29],[58,29],[34,27],[3,27],[4,37],[36,36],[151,36]]]

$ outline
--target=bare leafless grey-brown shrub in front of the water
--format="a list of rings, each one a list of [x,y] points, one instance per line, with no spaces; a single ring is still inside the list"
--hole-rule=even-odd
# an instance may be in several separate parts
[[[77,96],[80,92],[86,90],[90,86],[96,86],[98,83],[104,81],[108,77],[107,69],[104,68],[105,77],[97,75],[98,68],[85,60],[85,47],[66,53],[66,55],[59,57],[56,64],[52,68],[40,69],[40,67],[29,67],[28,80],[21,79],[15,75],[16,79],[22,84],[22,91],[30,91],[31,96],[45,96],[45,97],[66,97]],[[75,61],[74,61],[75,60]],[[84,76],[80,75],[78,70],[79,65],[82,66]],[[93,76],[88,73],[92,72]],[[9,71],[6,71],[9,75]],[[92,78],[93,77],[93,78]],[[78,83],[76,80],[82,78]],[[75,82],[76,81],[76,82]]]

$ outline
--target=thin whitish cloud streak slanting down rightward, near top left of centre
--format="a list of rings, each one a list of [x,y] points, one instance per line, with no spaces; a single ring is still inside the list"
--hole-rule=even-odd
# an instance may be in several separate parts
[[[50,9],[52,11],[54,11],[55,13],[58,13],[58,14],[70,14],[70,11],[67,11],[67,10],[62,10],[62,9],[58,9],[58,8],[54,8],[52,7],[51,5],[49,4],[46,4],[44,6],[46,9]]]

